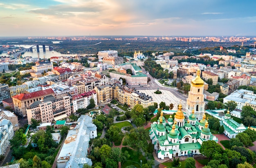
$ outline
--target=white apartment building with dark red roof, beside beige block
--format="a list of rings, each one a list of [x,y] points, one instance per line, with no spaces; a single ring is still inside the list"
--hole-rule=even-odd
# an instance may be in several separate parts
[[[84,109],[88,105],[90,105],[90,100],[91,99],[93,99],[94,102],[95,102],[95,105],[97,105],[97,93],[96,93],[95,90],[92,90],[90,92],[85,92],[85,93],[79,94],[77,96],[73,96],[72,100],[73,100],[73,111],[74,111],[74,113],[78,109]]]

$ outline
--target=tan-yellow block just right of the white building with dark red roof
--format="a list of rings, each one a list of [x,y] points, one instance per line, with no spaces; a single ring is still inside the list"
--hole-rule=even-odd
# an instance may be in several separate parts
[[[113,98],[112,87],[110,85],[99,86],[97,87],[96,92],[98,103],[107,103]]]

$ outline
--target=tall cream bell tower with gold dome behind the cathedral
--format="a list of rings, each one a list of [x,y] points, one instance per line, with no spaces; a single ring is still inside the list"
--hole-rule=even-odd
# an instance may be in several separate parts
[[[186,116],[189,118],[192,110],[195,111],[197,120],[201,120],[204,114],[204,81],[200,78],[200,70],[197,76],[191,81],[189,98],[186,99]]]

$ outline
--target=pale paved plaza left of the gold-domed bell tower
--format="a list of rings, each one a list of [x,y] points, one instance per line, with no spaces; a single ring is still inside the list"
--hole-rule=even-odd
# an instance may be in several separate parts
[[[168,90],[162,90],[159,89],[159,91],[162,92],[162,94],[155,94],[156,90],[146,89],[146,90],[139,90],[141,93],[145,93],[148,96],[151,96],[153,98],[153,102],[156,102],[158,105],[161,102],[164,102],[166,105],[170,105],[173,103],[173,109],[172,110],[178,110],[178,105],[181,103],[183,111],[185,111],[186,108],[186,101],[181,100],[177,98],[174,94],[172,94]]]

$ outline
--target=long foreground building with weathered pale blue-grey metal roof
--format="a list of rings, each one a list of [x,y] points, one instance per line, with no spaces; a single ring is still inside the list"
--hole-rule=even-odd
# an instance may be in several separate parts
[[[63,147],[57,158],[58,168],[78,168],[83,164],[92,166],[88,157],[89,141],[97,137],[97,127],[92,118],[82,115],[77,120],[76,127],[67,134]]]

